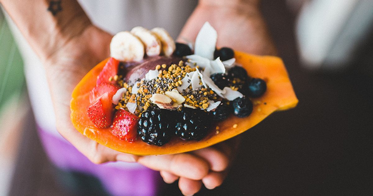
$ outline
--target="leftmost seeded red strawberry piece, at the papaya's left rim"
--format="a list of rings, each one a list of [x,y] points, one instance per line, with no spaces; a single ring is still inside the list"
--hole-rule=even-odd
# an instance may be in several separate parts
[[[98,128],[109,127],[113,122],[112,99],[104,93],[87,107],[88,118]]]

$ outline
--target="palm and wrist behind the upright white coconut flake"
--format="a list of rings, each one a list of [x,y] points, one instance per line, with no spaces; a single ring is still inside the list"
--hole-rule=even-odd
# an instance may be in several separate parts
[[[217,31],[217,47],[231,47],[256,55],[276,55],[258,4],[258,0],[200,0],[178,41],[194,41],[208,21]]]

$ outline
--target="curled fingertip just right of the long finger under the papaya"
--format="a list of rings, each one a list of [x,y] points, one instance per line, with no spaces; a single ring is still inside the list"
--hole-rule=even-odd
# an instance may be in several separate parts
[[[224,171],[228,167],[229,157],[214,147],[194,150],[192,153],[205,159],[209,163],[212,171]]]

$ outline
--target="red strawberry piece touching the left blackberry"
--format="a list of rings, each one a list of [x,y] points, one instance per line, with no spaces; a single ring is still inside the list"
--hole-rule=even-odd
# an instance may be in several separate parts
[[[137,136],[138,116],[123,109],[115,113],[112,134],[120,140],[134,142]]]

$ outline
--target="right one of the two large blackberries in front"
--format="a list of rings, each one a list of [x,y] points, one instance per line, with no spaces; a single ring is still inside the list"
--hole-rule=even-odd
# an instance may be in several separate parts
[[[209,122],[207,113],[200,109],[183,108],[176,123],[176,135],[185,140],[201,140],[206,136]]]

